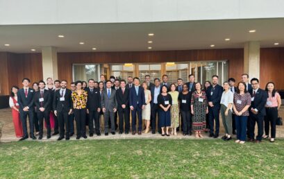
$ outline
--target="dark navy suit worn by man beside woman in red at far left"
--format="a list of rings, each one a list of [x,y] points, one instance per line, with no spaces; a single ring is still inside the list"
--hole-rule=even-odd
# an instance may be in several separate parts
[[[28,88],[28,96],[25,95],[24,88],[19,89],[17,92],[18,103],[19,103],[19,116],[21,117],[22,127],[24,132],[24,137],[28,137],[28,128],[26,126],[26,117],[28,116],[28,123],[30,125],[30,135],[33,135],[34,124],[33,124],[33,95],[35,94],[35,90]],[[28,111],[24,111],[23,109],[28,107]]]

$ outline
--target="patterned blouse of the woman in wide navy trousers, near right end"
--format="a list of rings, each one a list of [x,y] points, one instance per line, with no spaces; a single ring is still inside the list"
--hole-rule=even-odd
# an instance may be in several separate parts
[[[240,112],[246,105],[251,105],[251,94],[248,92],[245,94],[234,94],[234,105],[235,109]],[[242,113],[242,116],[249,116],[249,110]]]

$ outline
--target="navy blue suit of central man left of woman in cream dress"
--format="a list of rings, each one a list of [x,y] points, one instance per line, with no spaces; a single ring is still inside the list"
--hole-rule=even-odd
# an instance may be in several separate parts
[[[136,94],[136,87],[129,89],[129,106],[133,106],[131,111],[132,116],[132,131],[136,131],[136,114],[138,115],[138,131],[142,131],[142,105],[145,105],[145,94],[142,87],[138,87],[138,94]]]

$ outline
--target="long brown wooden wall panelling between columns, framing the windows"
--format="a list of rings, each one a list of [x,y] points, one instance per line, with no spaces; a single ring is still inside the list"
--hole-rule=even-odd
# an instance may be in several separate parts
[[[228,60],[229,76],[240,80],[244,66],[243,59],[243,49],[58,53],[58,77],[61,80],[66,79],[68,82],[71,81],[72,64],[74,63],[151,63]]]

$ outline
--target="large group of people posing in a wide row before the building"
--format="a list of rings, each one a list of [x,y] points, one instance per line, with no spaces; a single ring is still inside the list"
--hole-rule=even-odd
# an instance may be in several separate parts
[[[106,80],[101,75],[99,82],[78,80],[70,84],[70,89],[67,89],[66,80],[55,80],[53,84],[52,78],[47,78],[47,85],[40,80],[30,88],[31,81],[24,78],[22,89],[11,88],[15,133],[20,140],[28,138],[28,116],[32,139],[36,139],[35,135],[42,139],[46,126],[47,139],[53,128],[52,135],[59,134],[58,140],[69,140],[74,135],[74,119],[76,139],[87,138],[86,126],[90,137],[94,133],[99,136],[103,116],[105,135],[115,135],[117,128],[119,134],[127,135],[132,130],[132,135],[142,135],[142,129],[144,133],[155,134],[158,128],[160,135],[169,136],[177,135],[181,128],[183,135],[194,132],[195,137],[203,138],[204,131],[209,137],[218,138],[221,114],[226,133],[222,137],[224,141],[236,134],[237,143],[258,143],[269,137],[270,130],[270,142],[274,142],[281,106],[281,96],[274,83],[269,82],[265,89],[260,89],[259,80],[252,78],[249,83],[248,74],[242,74],[237,86],[234,78],[219,85],[219,77],[214,75],[211,82],[201,85],[195,82],[193,74],[188,77],[187,83],[178,78],[176,83],[169,84],[167,75],[163,75],[162,80],[155,78],[153,83],[149,75],[142,83],[137,77],[129,76],[126,83],[114,76]],[[256,123],[258,133],[255,137]]]

